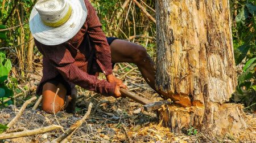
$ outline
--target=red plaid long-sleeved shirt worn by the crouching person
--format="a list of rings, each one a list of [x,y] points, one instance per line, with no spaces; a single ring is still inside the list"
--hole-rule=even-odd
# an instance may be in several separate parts
[[[43,54],[43,77],[37,94],[42,94],[42,83],[61,74],[68,83],[104,95],[113,95],[115,83],[98,80],[97,73],[112,74],[110,46],[101,29],[96,11],[84,0],[88,15],[83,27],[64,44],[48,46],[35,40]]]

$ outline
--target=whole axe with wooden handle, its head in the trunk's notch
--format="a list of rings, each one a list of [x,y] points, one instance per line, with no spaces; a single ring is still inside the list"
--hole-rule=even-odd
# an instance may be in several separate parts
[[[171,104],[171,102],[167,101],[167,100],[153,102],[153,101],[150,101],[146,98],[138,96],[137,94],[129,92],[122,88],[120,89],[120,92],[121,92],[122,96],[128,97],[135,102],[141,103],[144,107],[144,110],[147,112],[158,110],[161,108],[162,105],[170,105]]]

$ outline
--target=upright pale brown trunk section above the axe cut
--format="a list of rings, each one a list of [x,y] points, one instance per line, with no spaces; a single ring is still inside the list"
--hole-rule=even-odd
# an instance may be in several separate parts
[[[229,2],[164,0],[156,10],[158,89],[229,101],[236,87]]]

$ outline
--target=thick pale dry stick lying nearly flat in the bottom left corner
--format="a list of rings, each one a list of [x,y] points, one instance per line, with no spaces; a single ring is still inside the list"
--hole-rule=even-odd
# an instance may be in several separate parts
[[[59,125],[49,125],[47,127],[42,127],[38,129],[26,130],[22,132],[15,132],[15,133],[3,133],[0,135],[0,140],[7,139],[7,138],[16,138],[16,137],[26,137],[26,136],[33,136],[38,135],[46,132],[53,131],[55,129],[63,128]]]

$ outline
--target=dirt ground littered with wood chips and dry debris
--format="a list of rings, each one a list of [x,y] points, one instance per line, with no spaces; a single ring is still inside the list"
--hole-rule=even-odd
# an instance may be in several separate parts
[[[117,72],[118,66],[119,72]],[[114,69],[116,70],[115,75],[122,77],[127,73],[123,72],[122,69],[125,66],[118,66]],[[127,65],[126,67],[131,66]],[[31,79],[34,80],[30,80],[27,85],[31,87],[27,97],[17,97],[15,99],[17,109],[22,106],[26,99],[35,95],[35,87],[42,74],[40,71],[36,73],[36,75],[31,75]],[[150,89],[137,70],[125,76],[125,83],[131,91],[139,94],[139,96],[146,97],[152,101],[162,99]],[[256,114],[246,113],[246,123],[249,128],[241,131],[238,135],[229,135],[227,133],[222,137],[212,137],[203,132],[198,132],[196,135],[191,136],[188,136],[185,132],[177,135],[170,132],[169,128],[164,128],[158,123],[155,112],[143,111],[142,105],[128,98],[104,97],[81,88],[78,88],[78,91],[75,115],[67,114],[66,112],[50,115],[41,111],[40,106],[37,110],[32,110],[34,101],[27,106],[18,122],[10,130],[22,131],[56,124],[63,126],[64,131],[66,131],[72,124],[82,118],[87,111],[89,102],[92,102],[93,108],[89,117],[73,134],[70,142],[256,142]],[[7,124],[15,117],[18,110],[15,112],[14,107],[14,105],[11,105],[0,110],[1,124]],[[50,142],[62,133],[61,129],[57,129],[43,135],[14,138],[2,142]]]

